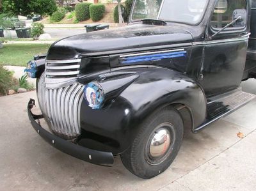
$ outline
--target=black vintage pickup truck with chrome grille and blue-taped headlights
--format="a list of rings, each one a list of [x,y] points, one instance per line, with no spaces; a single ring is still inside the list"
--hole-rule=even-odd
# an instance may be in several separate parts
[[[92,164],[120,155],[152,178],[172,164],[184,128],[255,98],[240,84],[256,77],[256,1],[134,0],[127,26],[60,40],[26,72],[42,111],[31,99],[28,116],[45,141]]]

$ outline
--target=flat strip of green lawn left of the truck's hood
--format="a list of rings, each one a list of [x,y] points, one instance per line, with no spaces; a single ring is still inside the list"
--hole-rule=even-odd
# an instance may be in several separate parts
[[[49,44],[5,44],[0,49],[0,65],[27,66],[36,54],[47,53]]]

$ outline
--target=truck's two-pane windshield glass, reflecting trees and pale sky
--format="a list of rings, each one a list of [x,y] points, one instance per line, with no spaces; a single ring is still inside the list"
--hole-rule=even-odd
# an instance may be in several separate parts
[[[131,19],[158,19],[186,24],[198,24],[208,0],[135,0]]]

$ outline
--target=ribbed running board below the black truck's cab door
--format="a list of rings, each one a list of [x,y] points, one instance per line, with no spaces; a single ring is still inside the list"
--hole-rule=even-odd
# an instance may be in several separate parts
[[[193,130],[193,132],[196,133],[210,123],[236,111],[255,97],[256,95],[243,92],[242,88],[238,88],[232,92],[210,98],[207,103],[207,118],[205,122]]]

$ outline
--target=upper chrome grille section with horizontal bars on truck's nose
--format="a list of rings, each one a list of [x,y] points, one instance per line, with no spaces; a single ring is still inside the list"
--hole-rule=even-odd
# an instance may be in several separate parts
[[[45,84],[47,88],[60,88],[77,79],[81,59],[46,60]]]

